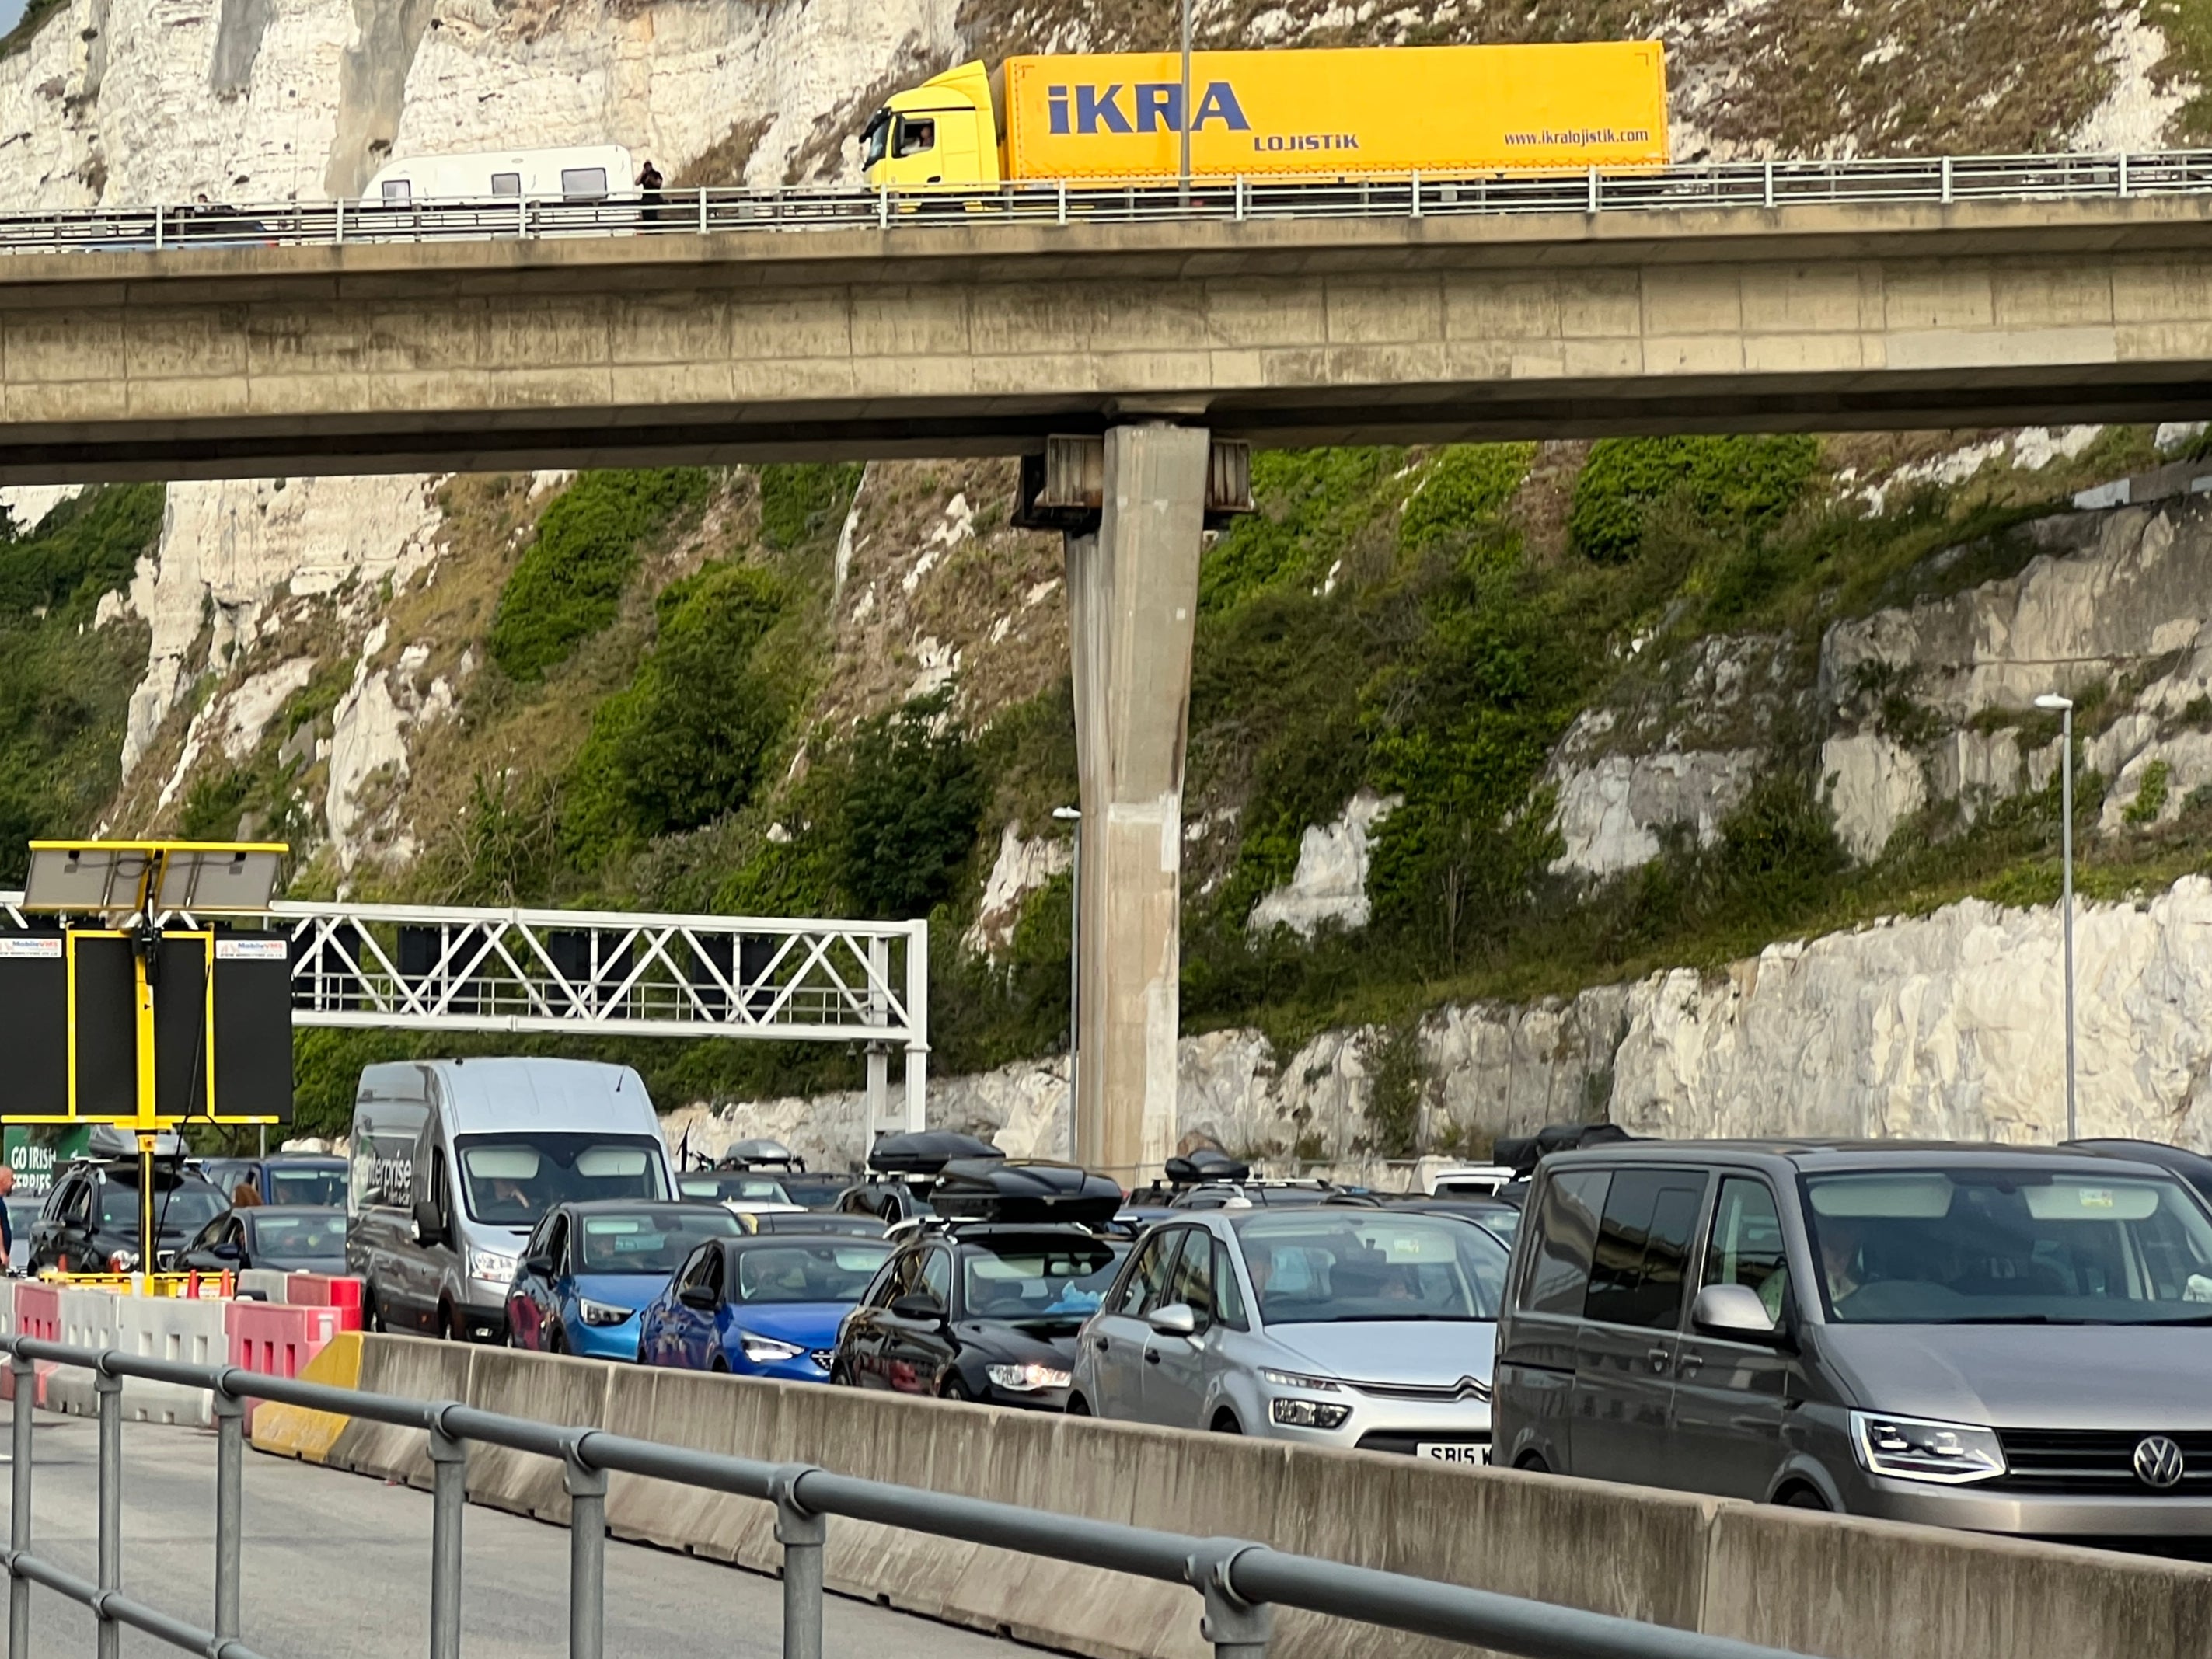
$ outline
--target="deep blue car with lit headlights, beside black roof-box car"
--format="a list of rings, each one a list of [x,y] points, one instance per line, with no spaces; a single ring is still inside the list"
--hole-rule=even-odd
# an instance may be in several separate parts
[[[836,1329],[891,1245],[849,1234],[754,1234],[686,1256],[637,1325],[637,1358],[690,1371],[827,1383]]]

